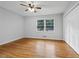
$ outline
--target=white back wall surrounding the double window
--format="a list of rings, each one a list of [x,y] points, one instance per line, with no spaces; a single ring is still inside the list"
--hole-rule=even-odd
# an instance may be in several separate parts
[[[63,38],[63,19],[62,14],[58,15],[46,15],[46,16],[35,16],[25,17],[25,37],[29,38],[48,38],[58,39]],[[54,19],[54,31],[37,31],[37,20],[41,19]],[[46,37],[44,37],[46,36]]]

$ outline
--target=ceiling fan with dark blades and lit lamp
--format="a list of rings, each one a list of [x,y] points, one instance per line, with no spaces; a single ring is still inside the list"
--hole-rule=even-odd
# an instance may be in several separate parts
[[[39,10],[41,9],[41,7],[36,6],[33,1],[29,4],[20,4],[20,5],[25,6],[27,8],[25,11],[30,10],[31,12],[34,12],[34,13],[37,12],[37,9],[39,9]]]

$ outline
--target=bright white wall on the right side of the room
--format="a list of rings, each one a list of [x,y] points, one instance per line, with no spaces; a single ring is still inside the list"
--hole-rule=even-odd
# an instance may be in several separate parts
[[[79,54],[79,4],[63,18],[64,39]]]

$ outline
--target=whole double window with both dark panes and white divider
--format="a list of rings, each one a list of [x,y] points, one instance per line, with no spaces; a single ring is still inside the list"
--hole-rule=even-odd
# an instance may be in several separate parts
[[[38,31],[54,30],[54,20],[37,20]]]

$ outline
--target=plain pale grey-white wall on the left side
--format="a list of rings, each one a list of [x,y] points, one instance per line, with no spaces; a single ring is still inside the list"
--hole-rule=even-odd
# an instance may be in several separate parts
[[[0,44],[23,37],[24,20],[8,10],[0,8]]]

